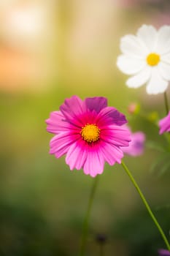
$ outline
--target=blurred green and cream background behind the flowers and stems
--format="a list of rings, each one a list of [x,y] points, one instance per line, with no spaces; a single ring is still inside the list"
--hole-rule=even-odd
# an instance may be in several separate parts
[[[70,171],[65,157],[50,156],[53,135],[45,125],[66,97],[107,97],[133,132],[165,143],[150,121],[128,113],[137,102],[162,118],[163,95],[148,96],[145,86],[128,89],[116,67],[120,37],[143,23],[169,25],[169,0],[0,1],[0,255],[78,255],[93,178]],[[159,175],[167,158],[152,167],[160,156],[146,146],[142,156],[124,160],[169,237],[170,172]],[[120,165],[106,164],[99,177],[88,256],[99,255],[100,237],[106,256],[152,256],[165,248]]]

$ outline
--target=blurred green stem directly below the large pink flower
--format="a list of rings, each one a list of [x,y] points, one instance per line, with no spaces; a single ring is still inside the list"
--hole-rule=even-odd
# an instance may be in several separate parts
[[[93,186],[91,188],[90,197],[89,197],[89,200],[88,200],[88,209],[86,211],[85,219],[84,219],[83,226],[82,226],[80,256],[85,255],[85,245],[86,245],[87,235],[88,235],[88,222],[89,222],[90,211],[91,211],[91,207],[92,207],[92,204],[93,204],[93,199],[94,199],[94,195],[95,195],[95,192],[96,192],[97,184],[98,184],[98,175],[94,178],[94,181],[93,181]]]

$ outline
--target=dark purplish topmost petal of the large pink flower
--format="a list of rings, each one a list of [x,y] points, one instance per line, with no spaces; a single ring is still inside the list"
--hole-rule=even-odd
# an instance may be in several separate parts
[[[86,98],[85,104],[87,105],[88,110],[90,111],[95,110],[96,113],[99,113],[102,108],[107,107],[107,98],[104,98],[104,97]]]

